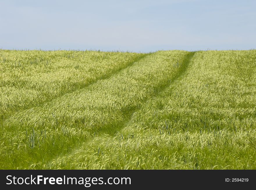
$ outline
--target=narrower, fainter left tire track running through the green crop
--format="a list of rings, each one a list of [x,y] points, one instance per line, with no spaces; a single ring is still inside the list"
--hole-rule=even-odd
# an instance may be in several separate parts
[[[111,73],[106,74],[105,76],[103,76],[103,77],[101,77],[101,78],[98,78],[98,79],[96,79],[96,80],[94,80],[94,81],[92,81],[92,82],[90,82],[90,83],[88,83],[88,84],[81,85],[80,87],[74,88],[74,89],[72,89],[72,90],[70,90],[70,91],[68,91],[68,92],[64,92],[64,93],[60,94],[59,96],[56,96],[56,97],[54,97],[54,98],[47,99],[46,101],[39,102],[38,105],[28,106],[27,108],[24,108],[24,109],[15,110],[15,111],[13,111],[13,113],[8,114],[6,117],[0,119],[0,126],[3,128],[5,121],[8,120],[8,119],[10,119],[10,117],[13,116],[13,115],[15,115],[15,114],[18,114],[18,113],[23,112],[23,111],[28,111],[28,112],[29,112],[30,110],[32,110],[32,109],[35,108],[35,107],[44,106],[44,105],[46,105],[47,103],[49,103],[49,102],[51,102],[51,101],[53,101],[53,100],[55,100],[55,99],[57,99],[57,98],[61,98],[61,97],[65,96],[66,94],[70,94],[70,93],[76,92],[77,90],[84,89],[84,88],[86,88],[86,87],[88,87],[88,86],[90,86],[90,85],[93,85],[93,84],[97,83],[97,82],[100,81],[100,80],[109,79],[109,78],[111,78],[112,76],[114,76],[114,75],[118,74],[119,72],[121,72],[122,70],[131,67],[134,63],[140,61],[141,59],[145,58],[146,56],[148,56],[148,55],[150,55],[150,54],[152,54],[152,53],[145,53],[145,54],[143,54],[143,55],[141,55],[141,56],[135,58],[134,60],[128,62],[128,64],[126,64],[124,67],[120,67],[119,69],[117,69],[117,70],[115,70],[115,71],[112,71]]]

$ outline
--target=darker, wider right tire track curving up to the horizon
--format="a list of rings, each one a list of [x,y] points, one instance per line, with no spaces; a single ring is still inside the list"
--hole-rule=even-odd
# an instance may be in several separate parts
[[[147,103],[147,101],[158,98],[163,92],[165,92],[168,88],[170,88],[173,85],[173,83],[176,83],[177,81],[182,79],[184,74],[186,74],[186,71],[188,69],[189,63],[191,62],[191,60],[192,60],[192,58],[193,58],[195,53],[196,53],[195,51],[194,52],[190,52],[190,53],[188,53],[185,56],[184,61],[182,62],[182,66],[180,67],[180,69],[177,72],[177,74],[173,77],[171,83],[168,83],[168,81],[167,81],[165,84],[163,84],[161,86],[161,88],[159,89],[159,92],[157,94],[152,94],[151,98],[145,99],[142,102],[142,106],[141,107],[137,107],[134,110],[131,110],[130,114],[125,116],[126,119],[124,121],[122,121],[121,123],[115,123],[115,127],[112,127],[112,129],[101,130],[96,137],[100,137],[100,136],[103,136],[103,135],[113,136],[113,135],[116,134],[116,132],[120,132],[120,134],[122,135],[121,130],[123,128],[125,128],[125,126],[127,126],[129,123],[131,123],[132,116],[134,115],[134,113],[136,113],[139,110],[141,110],[142,107],[144,107],[144,105]],[[106,131],[108,133],[106,133]],[[81,146],[80,148],[75,148],[74,150],[72,150],[72,152],[68,152],[68,153],[64,154],[62,157],[69,157],[69,156],[75,155],[76,153],[83,152],[83,147],[86,146],[86,145],[90,145],[92,143],[92,141],[94,140],[94,138],[95,137],[87,138],[86,141],[83,142],[83,146]],[[56,161],[59,158],[61,158],[61,157],[56,157],[56,158],[52,159],[50,162],[48,162],[48,163],[53,163],[54,161]]]

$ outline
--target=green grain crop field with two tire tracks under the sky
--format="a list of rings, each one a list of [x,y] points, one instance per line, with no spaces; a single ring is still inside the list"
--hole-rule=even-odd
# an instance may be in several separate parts
[[[256,50],[0,49],[0,169],[256,169]]]

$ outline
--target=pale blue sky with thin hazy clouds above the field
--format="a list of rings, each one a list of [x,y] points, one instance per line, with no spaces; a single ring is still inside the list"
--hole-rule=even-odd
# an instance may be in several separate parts
[[[0,0],[0,48],[256,49],[255,0]]]

